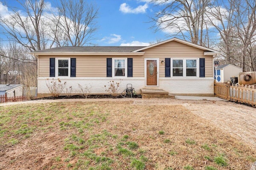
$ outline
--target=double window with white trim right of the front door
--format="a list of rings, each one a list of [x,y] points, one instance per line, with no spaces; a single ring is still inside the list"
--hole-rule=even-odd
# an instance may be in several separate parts
[[[199,59],[171,59],[171,76],[199,77]]]

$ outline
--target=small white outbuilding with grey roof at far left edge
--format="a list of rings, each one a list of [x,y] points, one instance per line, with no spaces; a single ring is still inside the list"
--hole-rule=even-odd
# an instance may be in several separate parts
[[[0,95],[7,94],[7,97],[16,97],[23,95],[22,84],[0,84]]]

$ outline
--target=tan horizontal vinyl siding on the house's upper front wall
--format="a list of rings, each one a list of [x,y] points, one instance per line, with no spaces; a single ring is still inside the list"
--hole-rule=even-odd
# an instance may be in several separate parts
[[[48,77],[49,58],[76,58],[76,77],[106,77],[106,58],[133,58],[133,77],[144,77],[144,59],[159,58],[160,77],[165,76],[165,58],[205,58],[205,76],[213,77],[212,56],[204,56],[204,50],[171,41],[144,50],[143,56],[39,56],[39,77]]]

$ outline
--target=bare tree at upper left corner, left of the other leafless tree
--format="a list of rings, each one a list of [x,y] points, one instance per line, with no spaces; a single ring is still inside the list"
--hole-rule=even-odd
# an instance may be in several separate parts
[[[22,9],[9,7],[7,18],[0,18],[0,24],[5,29],[4,34],[10,41],[18,43],[30,51],[41,50],[40,25],[44,0],[18,1]],[[26,14],[22,16],[22,12]]]

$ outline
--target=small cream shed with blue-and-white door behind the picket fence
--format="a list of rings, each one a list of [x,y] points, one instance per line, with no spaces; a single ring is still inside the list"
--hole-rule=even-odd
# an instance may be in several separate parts
[[[238,77],[238,74],[243,72],[242,68],[232,64],[220,65],[215,68],[216,82],[230,81],[230,77]]]

